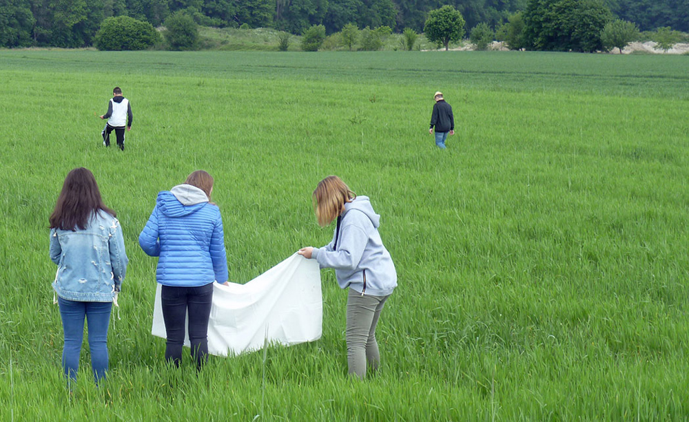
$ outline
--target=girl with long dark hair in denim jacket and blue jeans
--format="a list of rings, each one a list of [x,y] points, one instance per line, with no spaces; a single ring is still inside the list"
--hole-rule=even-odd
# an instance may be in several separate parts
[[[115,211],[105,207],[93,173],[83,167],[67,175],[50,215],[50,259],[57,264],[52,286],[65,332],[65,377],[76,381],[85,318],[98,383],[107,371],[110,310],[128,260]]]

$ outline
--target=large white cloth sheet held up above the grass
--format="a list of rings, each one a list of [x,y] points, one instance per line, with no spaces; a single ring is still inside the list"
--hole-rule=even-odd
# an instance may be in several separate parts
[[[285,346],[317,340],[322,320],[318,262],[295,253],[247,284],[214,283],[208,352],[227,356],[259,350],[266,336],[268,343]],[[151,333],[166,337],[160,284]]]

